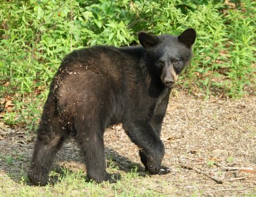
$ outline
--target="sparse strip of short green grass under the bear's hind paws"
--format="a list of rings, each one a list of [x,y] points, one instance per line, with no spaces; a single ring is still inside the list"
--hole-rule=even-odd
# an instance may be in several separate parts
[[[86,182],[81,171],[70,173],[64,170],[58,183],[45,187],[29,186],[24,177],[19,183],[0,174],[0,196],[170,196],[175,193],[171,183],[165,182],[163,187],[159,184],[148,177],[139,177],[135,171],[122,173],[122,180],[115,184],[95,184]]]

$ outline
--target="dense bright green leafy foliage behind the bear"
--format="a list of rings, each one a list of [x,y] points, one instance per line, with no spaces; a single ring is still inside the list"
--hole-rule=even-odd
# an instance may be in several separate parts
[[[255,85],[256,2],[1,1],[1,118],[34,128],[61,59],[93,45],[135,45],[140,31],[198,37],[181,80],[205,98],[240,98]],[[7,105],[7,104],[8,105]]]

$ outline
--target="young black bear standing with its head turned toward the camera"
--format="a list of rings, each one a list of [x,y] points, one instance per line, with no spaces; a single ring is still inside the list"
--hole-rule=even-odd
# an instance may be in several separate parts
[[[115,182],[119,175],[106,171],[103,136],[118,123],[140,148],[146,170],[169,173],[161,166],[159,136],[170,91],[191,59],[195,38],[194,29],[179,36],[139,33],[142,46],[97,46],[67,55],[52,80],[38,127],[31,183],[47,184],[52,161],[68,136],[81,149],[89,179]]]

